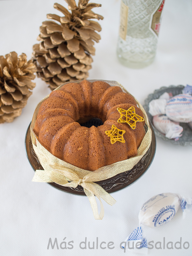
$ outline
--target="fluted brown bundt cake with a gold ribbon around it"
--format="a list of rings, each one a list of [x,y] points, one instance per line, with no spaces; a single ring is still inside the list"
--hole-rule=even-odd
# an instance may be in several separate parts
[[[137,122],[135,129],[127,123],[117,122],[118,109],[131,107],[143,117],[135,99],[119,86],[86,80],[68,83],[43,101],[34,132],[38,141],[54,156],[84,170],[95,171],[137,155],[145,135],[145,121]],[[80,120],[87,117],[100,118],[104,124],[91,128],[81,126]],[[110,132],[113,125],[125,131],[124,143],[111,143],[106,131]]]

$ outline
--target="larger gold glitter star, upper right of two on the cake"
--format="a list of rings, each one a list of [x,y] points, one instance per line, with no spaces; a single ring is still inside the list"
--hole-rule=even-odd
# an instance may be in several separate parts
[[[133,130],[135,130],[136,127],[136,123],[137,122],[143,122],[144,118],[137,115],[135,113],[135,108],[134,107],[130,107],[128,110],[124,110],[123,108],[117,108],[117,110],[120,113],[120,117],[117,120],[118,123],[127,123],[131,126],[131,128]],[[123,119],[123,117],[125,117],[125,119]]]

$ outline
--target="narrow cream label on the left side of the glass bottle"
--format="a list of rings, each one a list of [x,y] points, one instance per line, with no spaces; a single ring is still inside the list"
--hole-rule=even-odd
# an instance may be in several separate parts
[[[126,39],[127,34],[128,9],[129,7],[121,0],[119,36],[124,40]]]

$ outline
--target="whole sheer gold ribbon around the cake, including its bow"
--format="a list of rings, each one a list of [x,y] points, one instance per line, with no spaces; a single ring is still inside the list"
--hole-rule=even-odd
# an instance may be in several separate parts
[[[94,82],[98,80],[88,80],[88,81]],[[99,80],[99,81],[104,81],[110,84],[111,86],[120,86],[124,92],[127,92],[124,89],[124,87],[121,84],[117,83],[116,81],[105,81],[105,80]],[[81,82],[81,81],[76,81],[76,83],[78,82]],[[67,82],[65,84],[68,84],[68,83],[70,82]],[[63,86],[63,84],[60,85],[55,90],[59,90],[61,86]],[[37,105],[33,115],[32,122],[31,122],[31,127],[30,127],[33,148],[39,159],[40,164],[44,168],[44,170],[36,170],[32,181],[55,182],[57,184],[60,184],[63,187],[72,187],[72,188],[76,188],[77,185],[82,186],[91,204],[94,218],[96,220],[102,220],[104,216],[104,208],[101,202],[101,198],[110,205],[115,204],[116,201],[103,188],[101,188],[98,184],[94,182],[100,181],[100,180],[106,180],[119,173],[131,170],[134,167],[134,165],[137,164],[140,161],[140,159],[146,154],[146,152],[148,151],[151,145],[151,139],[152,139],[152,133],[149,127],[147,114],[144,108],[142,107],[142,105],[135,99],[139,108],[143,112],[145,122],[148,126],[148,131],[146,132],[141,142],[141,145],[138,148],[137,156],[101,167],[100,169],[94,172],[90,172],[90,171],[78,168],[72,164],[68,164],[67,162],[53,156],[37,140],[35,133],[33,132],[36,116],[39,111],[40,105],[48,97],[49,95],[46,98],[44,98],[41,102],[39,102],[39,104]],[[95,196],[97,196],[100,201],[100,206],[101,206],[100,214],[98,213]]]

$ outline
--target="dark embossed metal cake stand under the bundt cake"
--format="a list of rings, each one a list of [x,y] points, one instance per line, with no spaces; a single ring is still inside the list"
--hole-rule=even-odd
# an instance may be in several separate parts
[[[86,126],[86,127],[91,127],[92,125],[95,125],[97,127],[97,126],[101,125],[100,122],[101,122],[100,119],[93,118],[90,121],[86,122],[85,124],[81,124],[81,125]],[[123,188],[126,188],[126,187],[132,185],[135,181],[140,179],[140,177],[147,171],[150,164],[152,163],[154,155],[155,155],[155,150],[156,150],[155,133],[154,133],[151,123],[150,123],[150,128],[152,130],[152,142],[151,142],[150,148],[148,149],[147,153],[141,158],[139,163],[137,163],[129,171],[119,173],[110,179],[97,181],[95,183],[99,184],[108,193],[114,193],[118,190],[121,190]],[[147,129],[147,126],[145,127],[145,129]],[[26,147],[26,153],[27,153],[29,163],[31,164],[33,170],[34,171],[43,170],[43,167],[39,163],[39,160],[38,160],[38,158],[35,154],[35,151],[33,149],[33,146],[32,146],[31,137],[30,137],[30,125],[29,125],[27,133],[26,133],[25,147]],[[78,196],[85,196],[83,187],[81,187],[79,185],[76,188],[71,188],[71,187],[63,187],[54,182],[48,183],[48,184],[54,188],[57,188],[63,192],[66,192],[66,193],[70,193],[70,194],[74,194],[74,195],[78,195]]]

